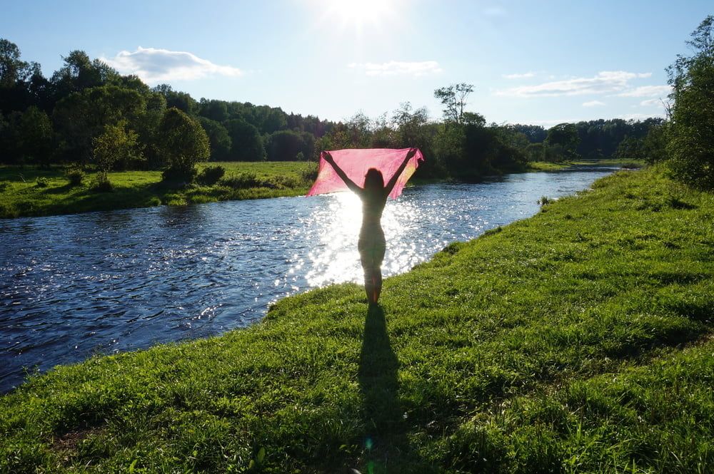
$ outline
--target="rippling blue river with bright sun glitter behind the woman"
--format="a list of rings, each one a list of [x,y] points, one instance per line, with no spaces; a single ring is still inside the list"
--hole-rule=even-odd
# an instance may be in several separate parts
[[[612,169],[406,188],[383,274],[538,211]],[[246,326],[280,297],[360,282],[351,193],[0,220],[0,391],[87,356]]]

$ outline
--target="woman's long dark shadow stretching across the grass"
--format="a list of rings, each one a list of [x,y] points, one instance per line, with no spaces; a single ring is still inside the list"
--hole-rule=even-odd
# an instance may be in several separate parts
[[[399,398],[399,361],[387,334],[384,311],[367,311],[360,354],[359,384],[364,417],[365,460],[363,473],[431,472],[409,444],[408,423]]]

